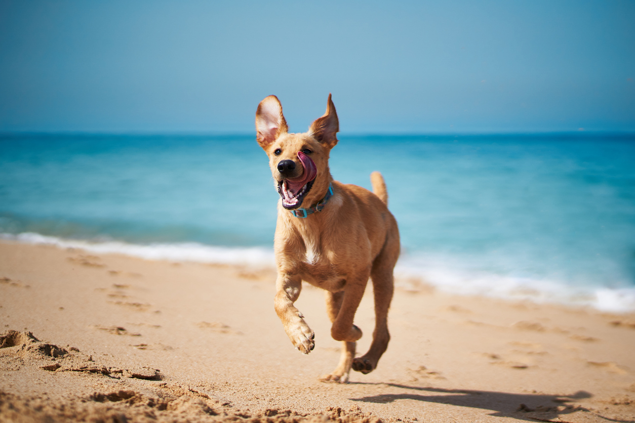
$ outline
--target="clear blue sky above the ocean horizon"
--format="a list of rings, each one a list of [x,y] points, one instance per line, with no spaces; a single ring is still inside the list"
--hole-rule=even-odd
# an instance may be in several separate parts
[[[0,0],[0,132],[635,132],[634,1]]]

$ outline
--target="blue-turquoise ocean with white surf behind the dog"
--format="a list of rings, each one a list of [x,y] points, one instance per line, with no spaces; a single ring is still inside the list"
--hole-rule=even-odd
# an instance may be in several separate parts
[[[635,136],[348,135],[333,177],[384,174],[400,280],[635,311]],[[255,135],[2,134],[0,237],[273,265],[279,195]]]

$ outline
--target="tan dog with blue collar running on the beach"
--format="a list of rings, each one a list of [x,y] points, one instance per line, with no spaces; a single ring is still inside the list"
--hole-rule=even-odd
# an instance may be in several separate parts
[[[333,181],[328,157],[338,141],[339,123],[330,94],[326,113],[307,133],[287,132],[276,96],[258,105],[256,130],[282,197],[274,241],[276,313],[293,345],[308,354],[315,346],[314,333],[293,303],[303,280],[326,290],[331,336],[343,345],[339,365],[321,379],[347,382],[351,367],[367,374],[377,367],[390,340],[392,268],[399,257],[399,230],[388,211],[384,178],[371,174],[375,193]],[[373,342],[368,353],[354,358],[362,333],[353,318],[369,277],[375,294]]]

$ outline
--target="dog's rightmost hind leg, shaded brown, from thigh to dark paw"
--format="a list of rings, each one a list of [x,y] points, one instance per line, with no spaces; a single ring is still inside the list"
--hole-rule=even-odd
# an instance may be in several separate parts
[[[392,268],[397,261],[394,252],[387,252],[384,249],[377,257],[371,271],[373,280],[373,294],[375,296],[375,330],[373,331],[373,342],[370,344],[368,353],[361,357],[354,358],[352,368],[356,372],[368,374],[375,370],[377,363],[384,351],[388,348],[391,335],[388,332],[388,309],[391,306],[392,293],[394,291],[394,280],[392,278]]]

